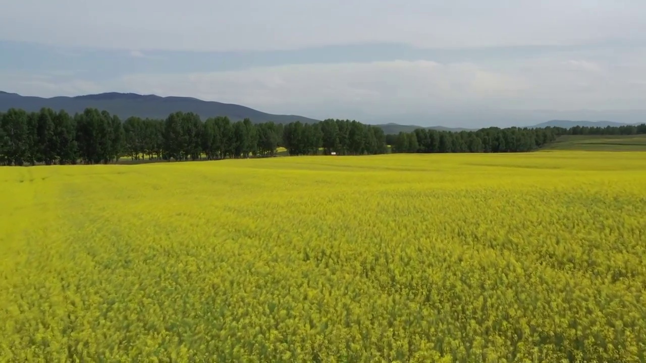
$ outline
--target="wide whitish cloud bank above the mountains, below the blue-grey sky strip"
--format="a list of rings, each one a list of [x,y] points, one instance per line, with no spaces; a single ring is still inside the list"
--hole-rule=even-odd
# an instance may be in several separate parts
[[[371,119],[468,110],[472,122],[477,123],[486,112],[505,109],[643,109],[646,65],[634,58],[641,52],[624,54],[616,63],[612,63],[614,59],[571,56],[488,64],[320,63],[127,74],[100,82],[79,79],[79,74],[73,73],[0,72],[0,84],[3,90],[45,97],[99,92],[190,96],[313,118]],[[464,125],[468,122],[465,118]]]

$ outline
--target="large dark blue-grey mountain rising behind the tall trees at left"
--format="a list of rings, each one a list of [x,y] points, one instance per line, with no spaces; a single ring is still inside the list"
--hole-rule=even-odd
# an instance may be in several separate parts
[[[161,97],[154,94],[109,92],[76,97],[41,98],[0,91],[0,112],[12,107],[27,111],[37,111],[43,107],[49,107],[54,110],[66,110],[70,114],[83,112],[88,107],[94,107],[99,110],[107,110],[110,114],[116,114],[120,118],[130,116],[166,118],[172,112],[183,111],[195,112],[203,119],[214,116],[228,116],[232,121],[249,118],[255,123],[266,121],[289,123],[298,120],[304,123],[313,123],[318,121],[297,115],[267,114],[241,105],[202,101],[191,97]]]

